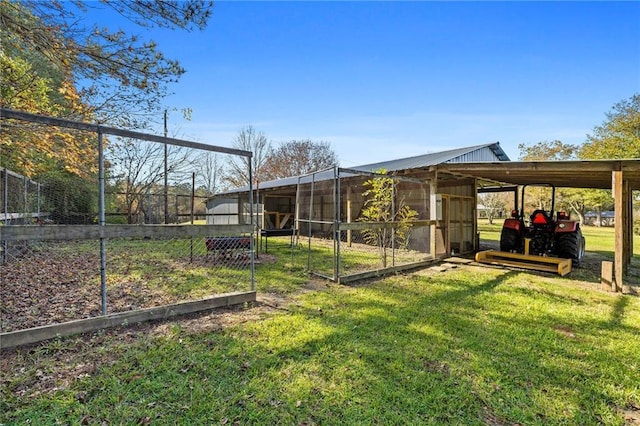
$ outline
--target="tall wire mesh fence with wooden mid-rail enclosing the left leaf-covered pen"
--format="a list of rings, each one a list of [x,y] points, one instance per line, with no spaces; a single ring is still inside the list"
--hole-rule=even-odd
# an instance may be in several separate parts
[[[32,177],[0,169],[0,333],[255,290],[252,222],[206,224],[207,162],[250,153],[2,112],[4,132],[66,135]]]

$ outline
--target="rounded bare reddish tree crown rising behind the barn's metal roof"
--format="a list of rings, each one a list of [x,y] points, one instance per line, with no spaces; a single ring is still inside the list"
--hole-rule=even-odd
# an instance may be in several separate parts
[[[310,139],[292,140],[280,145],[267,159],[265,179],[282,179],[328,169],[338,163],[338,157],[329,142]]]

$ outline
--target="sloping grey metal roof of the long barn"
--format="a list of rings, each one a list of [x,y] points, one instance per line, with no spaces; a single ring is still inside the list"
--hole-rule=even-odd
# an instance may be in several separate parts
[[[362,166],[351,167],[350,170],[354,171],[362,171],[364,173],[371,173],[380,169],[385,169],[387,172],[397,172],[401,170],[410,170],[410,169],[420,169],[420,168],[429,168],[431,166],[435,166],[438,164],[444,163],[460,163],[473,159],[474,161],[478,161],[477,156],[472,156],[470,158],[466,158],[470,154],[479,153],[481,151],[487,151],[486,154],[483,155],[486,158],[486,161],[509,161],[509,157],[500,147],[499,142],[486,143],[482,145],[474,145],[464,148],[456,148],[448,151],[440,151],[434,152],[430,154],[418,155],[415,157],[407,157],[401,158],[398,160],[391,161],[383,161],[379,163],[371,163],[364,164]],[[340,177],[348,177],[355,176],[355,173],[344,172],[340,173]],[[270,189],[270,188],[281,188],[286,186],[294,186],[300,183],[310,183],[314,182],[322,182],[326,180],[330,180],[334,178],[334,170],[324,170],[320,172],[316,172],[312,175],[305,176],[291,176],[282,179],[275,179],[266,182],[260,182],[258,185],[259,189]],[[216,194],[215,196],[225,195],[225,194],[236,194],[240,192],[247,192],[249,190],[248,186],[243,186],[240,188],[232,189],[230,191],[226,191],[224,193]]]

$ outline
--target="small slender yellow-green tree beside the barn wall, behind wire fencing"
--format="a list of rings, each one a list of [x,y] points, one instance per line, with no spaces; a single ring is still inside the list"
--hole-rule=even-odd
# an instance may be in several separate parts
[[[363,236],[366,243],[378,247],[380,263],[386,268],[388,249],[394,245],[406,248],[413,226],[411,222],[418,218],[418,212],[404,200],[397,199],[393,177],[382,176],[386,174],[385,170],[377,173],[380,176],[363,183],[368,189],[362,193],[365,201],[358,221],[383,225],[363,231]]]

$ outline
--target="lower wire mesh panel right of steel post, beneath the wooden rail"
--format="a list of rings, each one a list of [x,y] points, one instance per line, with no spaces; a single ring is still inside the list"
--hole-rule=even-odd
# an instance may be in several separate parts
[[[251,234],[116,238],[107,244],[110,311],[140,309],[248,291]],[[127,299],[127,298],[124,298]]]

